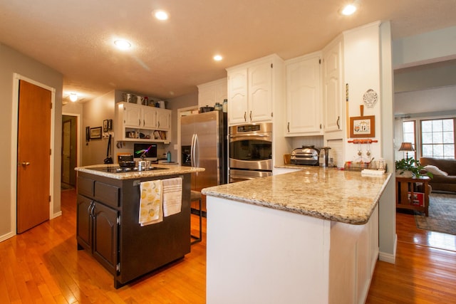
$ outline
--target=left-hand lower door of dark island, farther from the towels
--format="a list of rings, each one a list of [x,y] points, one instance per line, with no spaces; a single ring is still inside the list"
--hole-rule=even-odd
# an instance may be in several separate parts
[[[78,217],[76,224],[76,239],[78,240],[78,249],[92,249],[92,208],[93,201],[86,196],[78,194],[76,200],[78,208]]]

